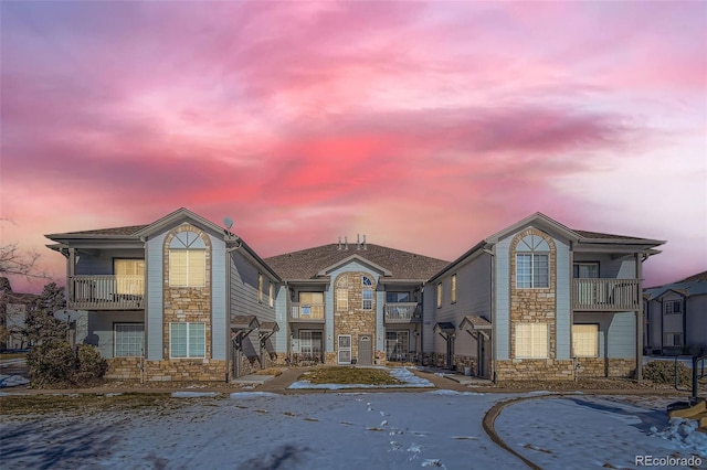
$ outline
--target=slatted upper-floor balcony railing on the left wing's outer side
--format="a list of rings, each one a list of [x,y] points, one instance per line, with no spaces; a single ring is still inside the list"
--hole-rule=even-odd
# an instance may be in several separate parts
[[[73,276],[68,279],[70,309],[141,310],[145,308],[143,276]]]

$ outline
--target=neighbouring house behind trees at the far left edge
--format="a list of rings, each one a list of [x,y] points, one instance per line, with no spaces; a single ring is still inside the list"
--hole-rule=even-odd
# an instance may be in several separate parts
[[[32,345],[23,333],[27,321],[27,309],[36,296],[34,293],[14,292],[10,280],[0,277],[0,324],[6,328],[7,338],[2,350],[20,350]]]

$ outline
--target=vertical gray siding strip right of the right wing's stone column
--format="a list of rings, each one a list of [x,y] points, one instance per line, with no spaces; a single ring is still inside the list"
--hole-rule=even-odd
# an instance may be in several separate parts
[[[572,279],[572,267],[570,266],[569,245],[553,238],[556,246],[556,329],[557,329],[557,352],[556,359],[568,360],[571,357],[570,323],[571,323],[571,293],[570,282]]]

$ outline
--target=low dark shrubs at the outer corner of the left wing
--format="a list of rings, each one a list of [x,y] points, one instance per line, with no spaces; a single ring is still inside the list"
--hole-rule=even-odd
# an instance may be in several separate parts
[[[88,344],[76,346],[76,356],[65,341],[49,341],[35,346],[27,357],[32,386],[86,385],[103,377],[108,363]]]

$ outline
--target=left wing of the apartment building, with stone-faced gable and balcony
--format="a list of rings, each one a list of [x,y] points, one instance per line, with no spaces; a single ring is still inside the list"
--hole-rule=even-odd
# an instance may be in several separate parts
[[[108,359],[108,378],[229,381],[273,361],[281,279],[228,229],[180,209],[46,237],[67,260],[77,341]]]

